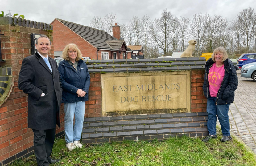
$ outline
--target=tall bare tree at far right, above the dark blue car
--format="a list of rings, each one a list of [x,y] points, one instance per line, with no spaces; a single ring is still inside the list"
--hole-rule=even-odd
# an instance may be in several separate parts
[[[254,29],[256,27],[256,14],[254,9],[249,7],[237,14],[234,22],[239,26],[239,34],[241,36],[243,48],[245,53],[249,52],[251,42],[254,36]]]

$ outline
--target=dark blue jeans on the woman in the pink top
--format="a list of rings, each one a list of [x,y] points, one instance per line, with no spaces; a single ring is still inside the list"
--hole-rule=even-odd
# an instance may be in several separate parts
[[[208,121],[207,128],[210,135],[216,134],[216,121],[218,115],[219,122],[221,124],[221,131],[223,136],[230,136],[230,126],[229,126],[229,105],[230,104],[222,104],[215,105],[215,97],[207,98],[207,113],[208,113]]]

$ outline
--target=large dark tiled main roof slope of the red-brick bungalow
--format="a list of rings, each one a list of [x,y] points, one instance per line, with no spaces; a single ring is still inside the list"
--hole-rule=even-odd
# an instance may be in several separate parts
[[[98,30],[95,28],[91,28],[89,26],[84,26],[80,24],[76,24],[73,22],[61,20],[59,18],[55,18],[65,26],[67,26],[70,30],[74,31],[76,34],[84,38],[86,41],[88,41],[91,45],[102,48],[102,49],[112,49],[106,41],[110,40],[117,40],[104,30]],[[119,47],[120,48],[120,47]],[[118,48],[118,49],[119,49]]]

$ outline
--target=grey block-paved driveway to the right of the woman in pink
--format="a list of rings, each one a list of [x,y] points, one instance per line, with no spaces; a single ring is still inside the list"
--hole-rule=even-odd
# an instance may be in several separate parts
[[[256,153],[256,82],[242,78],[240,71],[235,101],[229,108],[230,131]]]

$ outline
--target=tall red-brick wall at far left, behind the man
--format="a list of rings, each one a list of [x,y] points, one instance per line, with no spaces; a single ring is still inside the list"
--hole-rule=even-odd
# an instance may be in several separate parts
[[[0,107],[0,165],[33,152],[33,131],[27,128],[27,94],[18,89],[18,78],[22,60],[31,55],[31,33],[45,34],[53,41],[49,31],[12,26],[0,25],[2,59],[1,66],[11,66],[14,86],[10,97]],[[53,46],[49,57],[54,57]],[[63,106],[60,112],[61,128],[56,128],[56,133],[64,130]]]

